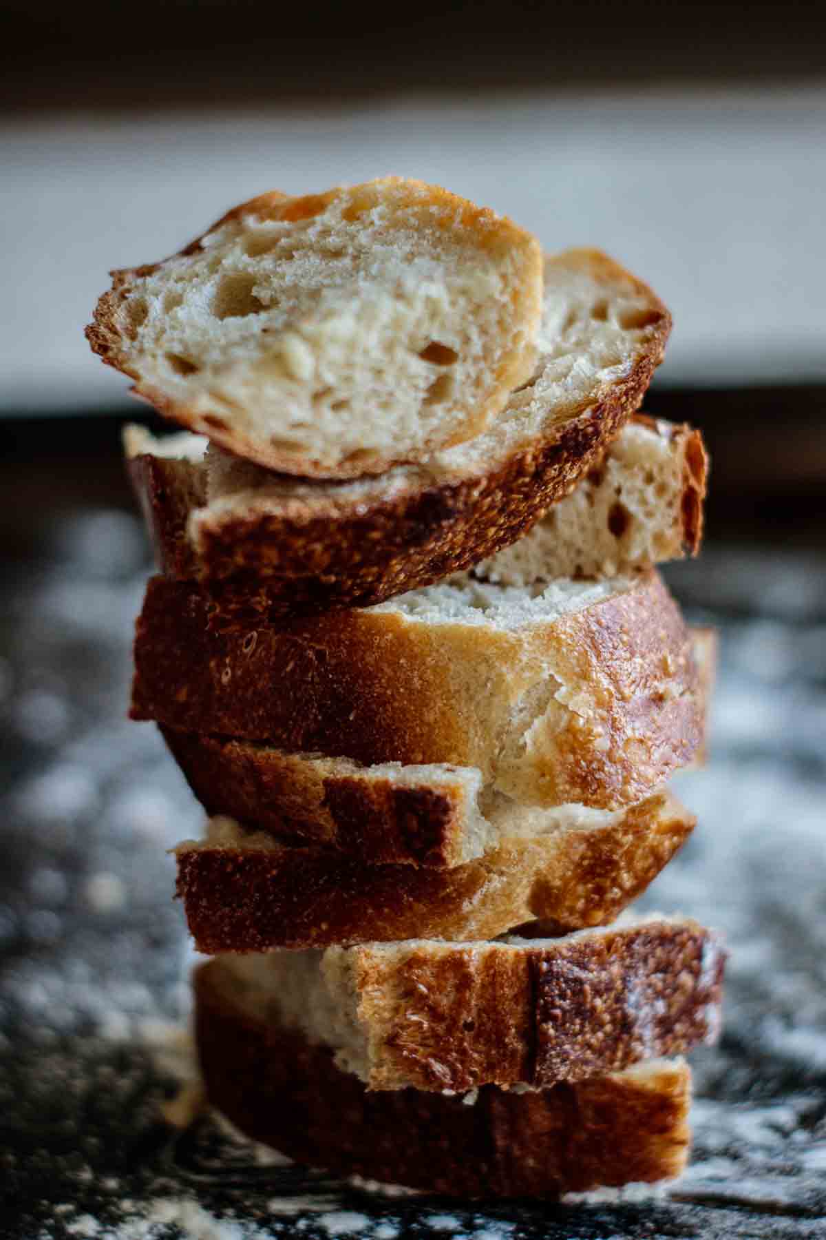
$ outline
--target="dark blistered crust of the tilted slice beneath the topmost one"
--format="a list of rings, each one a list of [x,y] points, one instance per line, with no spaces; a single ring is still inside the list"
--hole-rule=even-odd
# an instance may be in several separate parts
[[[405,487],[334,513],[317,502],[243,513],[206,513],[194,539],[181,521],[175,465],[150,454],[129,461],[161,568],[208,585],[224,624],[327,608],[369,606],[430,585],[510,546],[566,496],[640,403],[654,363],[611,399],[479,475]],[[698,533],[697,533],[698,537]]]

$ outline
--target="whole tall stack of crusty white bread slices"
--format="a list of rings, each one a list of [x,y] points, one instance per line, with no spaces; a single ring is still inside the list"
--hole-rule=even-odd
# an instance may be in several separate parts
[[[655,568],[706,475],[638,413],[669,329],[604,254],[400,179],[263,195],[99,301],[187,428],[126,434],[162,570],[131,715],[208,815],[206,1090],[293,1158],[483,1197],[685,1164],[724,952],[624,911],[693,828],[713,680]]]

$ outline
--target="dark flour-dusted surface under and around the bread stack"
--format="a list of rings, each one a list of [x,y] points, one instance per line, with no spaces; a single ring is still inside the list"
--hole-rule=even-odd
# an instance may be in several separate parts
[[[0,1235],[826,1236],[826,557],[713,548],[670,578],[723,635],[700,826],[645,899],[722,928],[724,1035],[695,1056],[692,1167],[669,1195],[495,1208],[284,1166],[159,1102],[189,1070],[192,959],[165,848],[199,811],[125,719],[149,569],[136,521],[52,531],[0,611]]]

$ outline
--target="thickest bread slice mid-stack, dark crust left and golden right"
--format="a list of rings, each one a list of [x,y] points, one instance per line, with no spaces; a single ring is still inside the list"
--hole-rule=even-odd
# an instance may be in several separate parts
[[[477,766],[533,805],[617,808],[691,761],[691,639],[655,572],[519,590],[467,579],[281,626],[208,625],[149,583],[131,717],[374,764]]]

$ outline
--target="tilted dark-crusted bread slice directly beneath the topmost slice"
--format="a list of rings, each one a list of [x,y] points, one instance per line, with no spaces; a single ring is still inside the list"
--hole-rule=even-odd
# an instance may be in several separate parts
[[[669,326],[653,294],[604,255],[549,259],[534,378],[484,434],[380,479],[298,481],[214,449],[203,465],[197,436],[187,445],[129,428],[161,567],[209,582],[227,609],[272,614],[367,606],[471,568],[596,464],[639,407]]]

